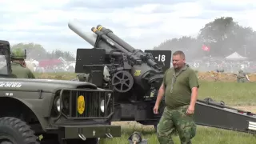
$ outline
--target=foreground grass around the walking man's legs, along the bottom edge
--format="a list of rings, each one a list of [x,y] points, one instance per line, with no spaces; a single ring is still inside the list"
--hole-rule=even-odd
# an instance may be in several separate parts
[[[135,127],[134,127],[135,126]],[[130,127],[130,128],[129,128]],[[132,128],[131,128],[132,127]],[[113,139],[102,139],[101,144],[129,144],[127,138],[136,130],[143,134],[143,138],[148,140],[148,144],[158,144],[158,139],[153,126],[130,125],[122,126],[122,137]],[[175,144],[180,143],[178,136],[173,137]],[[230,130],[218,130],[198,126],[197,134],[192,140],[193,144],[255,144],[256,136],[243,134]]]

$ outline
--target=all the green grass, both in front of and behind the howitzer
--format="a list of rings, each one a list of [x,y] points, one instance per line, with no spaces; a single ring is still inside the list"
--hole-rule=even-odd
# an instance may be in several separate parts
[[[72,79],[75,74],[36,74],[37,78]],[[246,110],[250,107],[256,113],[256,85],[255,83],[237,82],[206,82],[200,81],[199,99],[213,98],[215,101],[224,101],[226,105]],[[136,122],[114,122],[122,125],[122,137],[102,139],[101,144],[128,144],[127,138],[134,130],[143,134],[149,144],[158,144],[153,126],[142,126]],[[174,136],[174,142],[178,136]],[[230,130],[219,130],[206,126],[198,126],[194,137],[194,144],[255,144],[256,135],[238,133]]]

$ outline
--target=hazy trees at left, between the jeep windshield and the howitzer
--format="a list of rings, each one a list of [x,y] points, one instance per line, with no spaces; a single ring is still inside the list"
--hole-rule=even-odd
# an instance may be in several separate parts
[[[37,60],[49,59],[49,58],[64,58],[67,61],[74,61],[74,55],[70,54],[68,51],[54,50],[52,52],[47,52],[44,47],[37,43],[18,43],[11,46],[11,50],[22,49],[26,50],[27,58],[34,58]]]

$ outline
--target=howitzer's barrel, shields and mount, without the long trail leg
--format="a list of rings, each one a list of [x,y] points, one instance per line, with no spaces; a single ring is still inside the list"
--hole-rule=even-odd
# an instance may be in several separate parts
[[[95,85],[114,90],[112,120],[157,122],[158,115],[153,113],[153,107],[163,74],[170,68],[171,51],[143,52],[101,25],[87,32],[75,21],[68,26],[94,46],[77,50],[75,72],[86,73]],[[109,74],[109,80],[103,78],[104,73]]]

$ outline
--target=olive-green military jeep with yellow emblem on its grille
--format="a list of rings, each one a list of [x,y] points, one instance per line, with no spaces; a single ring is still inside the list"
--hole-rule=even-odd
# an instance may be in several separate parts
[[[10,43],[0,41],[0,144],[84,144],[121,136],[111,126],[112,91],[92,83],[11,74]]]

